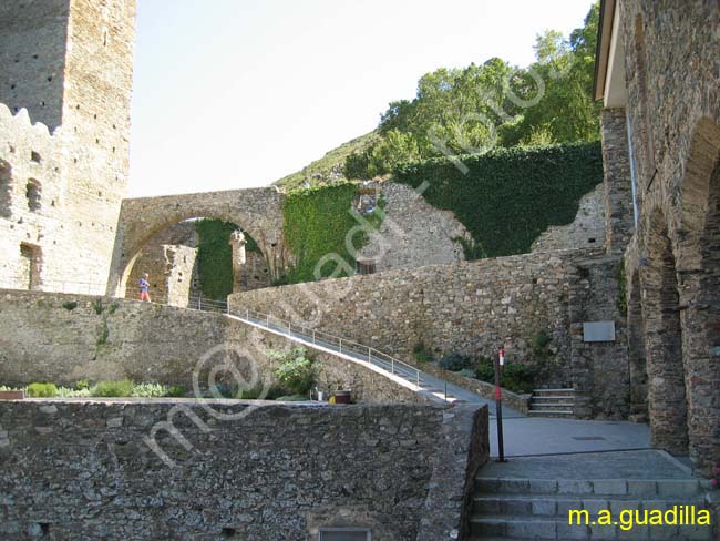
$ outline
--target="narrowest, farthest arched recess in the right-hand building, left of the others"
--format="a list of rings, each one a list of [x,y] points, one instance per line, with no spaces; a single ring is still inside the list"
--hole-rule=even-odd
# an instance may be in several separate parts
[[[648,414],[648,371],[645,354],[645,319],[640,298],[640,273],[628,279],[628,356],[630,364],[630,415],[644,419]]]

